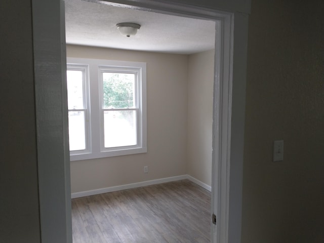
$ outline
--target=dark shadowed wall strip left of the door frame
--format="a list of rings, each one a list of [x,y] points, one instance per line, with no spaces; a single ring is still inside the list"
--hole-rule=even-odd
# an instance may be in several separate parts
[[[37,243],[41,229],[31,1],[1,3],[0,22],[0,242]]]

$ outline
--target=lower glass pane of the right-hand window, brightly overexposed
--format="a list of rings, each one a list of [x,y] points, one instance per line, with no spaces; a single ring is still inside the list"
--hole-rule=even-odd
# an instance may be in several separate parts
[[[104,111],[104,147],[137,144],[136,111]]]

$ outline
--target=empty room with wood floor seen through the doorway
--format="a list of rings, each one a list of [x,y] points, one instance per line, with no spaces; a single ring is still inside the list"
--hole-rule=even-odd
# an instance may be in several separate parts
[[[73,242],[210,242],[215,21],[67,0],[65,22]]]

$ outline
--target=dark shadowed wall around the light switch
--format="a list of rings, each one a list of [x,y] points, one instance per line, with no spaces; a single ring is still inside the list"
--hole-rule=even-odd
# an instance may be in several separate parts
[[[241,242],[324,242],[324,2],[252,1]],[[284,140],[284,160],[272,143]]]

